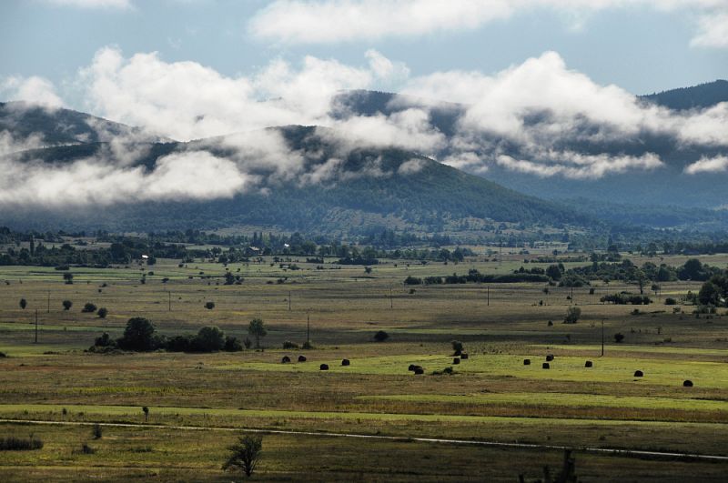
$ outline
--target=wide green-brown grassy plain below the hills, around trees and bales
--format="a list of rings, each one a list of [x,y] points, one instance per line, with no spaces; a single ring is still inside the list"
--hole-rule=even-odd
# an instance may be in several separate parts
[[[648,260],[660,262],[633,261]],[[260,479],[513,481],[519,473],[540,478],[543,465],[556,469],[561,459],[554,449],[408,439],[420,437],[728,456],[728,317],[696,318],[692,307],[673,313],[663,304],[699,284],[662,284],[655,303],[632,315],[632,306],[599,302],[607,293],[637,290],[615,283],[595,284],[592,295],[576,288],[571,300],[571,289],[545,294],[544,284],[402,285],[409,275],[473,267],[508,273],[523,264],[518,254],[457,265],[386,261],[371,274],[330,261],[317,269],[293,257],[298,270],[270,258],[231,264],[227,269],[245,278],[233,286],[223,285],[225,267],[203,260],[186,267],[160,260],[154,267],[73,268],[73,285],[53,268],[0,267],[0,351],[8,356],[0,358],[0,432],[34,433],[45,442],[39,451],[0,452],[0,479],[229,480],[220,465],[236,428],[402,438],[269,434]],[[725,267],[728,257],[703,262]],[[67,311],[65,299],[74,303]],[[207,310],[207,301],[215,308]],[[106,307],[108,317],[81,313],[86,302]],[[563,325],[571,304],[581,307],[581,320]],[[166,335],[217,325],[240,338],[251,318],[262,317],[267,348],[84,352],[105,331],[120,336],[129,317],[148,317]],[[307,317],[315,348],[279,348],[285,340],[306,340]],[[373,342],[377,330],[389,340]],[[616,332],[625,335],[621,344],[613,342]],[[452,339],[470,354],[459,365],[452,364]],[[550,369],[541,368],[546,354],[554,355]],[[286,355],[308,360],[281,364]],[[340,365],[345,357],[349,367]],[[584,367],[586,360],[593,367]],[[321,363],[330,370],[320,371]],[[410,364],[426,374],[413,376]],[[433,374],[446,367],[454,374]],[[638,369],[644,377],[633,377]],[[682,387],[685,379],[694,387]],[[150,408],[147,422],[142,406]],[[138,427],[108,427],[93,440],[90,428],[68,424],[76,422]],[[96,454],[78,451],[85,442]],[[728,472],[725,462],[576,454],[583,481],[718,481]]]

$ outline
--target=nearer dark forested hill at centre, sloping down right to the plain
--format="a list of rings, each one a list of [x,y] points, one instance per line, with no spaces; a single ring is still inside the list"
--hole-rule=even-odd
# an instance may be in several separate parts
[[[290,149],[306,154],[309,169],[325,162],[328,141],[316,128],[288,126],[275,128],[283,134]],[[157,143],[139,165],[153,168],[159,156],[186,149],[197,150],[204,142]],[[19,156],[25,161],[43,160],[64,164],[94,156],[103,143],[82,146],[56,146]],[[226,156],[222,149],[212,149]],[[313,155],[315,154],[315,156]],[[310,156],[309,156],[310,155]],[[416,171],[403,172],[404,163],[415,160]],[[367,176],[363,170],[372,162],[381,172]],[[473,176],[430,158],[400,149],[358,148],[340,166],[346,176],[315,185],[298,180],[270,183],[266,194],[256,191],[232,199],[213,201],[146,202],[98,208],[74,209],[64,213],[66,226],[86,226],[115,230],[180,229],[188,227],[277,226],[282,229],[319,233],[352,233],[368,226],[389,226],[414,231],[440,231],[461,226],[467,220],[475,225],[497,222],[545,225],[592,224],[593,218],[577,215],[571,209],[533,196],[524,196],[480,176]],[[47,214],[47,213],[46,213]],[[42,216],[42,224],[59,223],[59,211]],[[0,224],[14,226],[35,223],[36,216],[0,214]]]

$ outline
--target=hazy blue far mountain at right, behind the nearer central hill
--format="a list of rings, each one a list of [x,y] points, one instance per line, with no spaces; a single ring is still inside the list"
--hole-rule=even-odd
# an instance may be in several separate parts
[[[641,98],[645,102],[657,103],[672,109],[709,107],[728,101],[728,82],[718,80]],[[437,103],[398,94],[349,91],[339,95],[332,114],[341,118],[354,115],[375,116],[377,113],[390,115],[410,106],[430,108],[431,125],[448,136],[455,132],[455,126],[460,116],[467,109],[467,106],[459,104]],[[548,116],[548,113],[542,114]],[[539,116],[533,116],[531,122],[537,123],[539,119]],[[527,122],[530,121],[527,119]],[[589,126],[584,128],[588,129]],[[480,142],[499,146],[502,154],[513,158],[528,159],[528,154],[521,157],[520,146],[505,142],[498,136],[482,135]],[[686,175],[683,173],[686,166],[703,156],[725,156],[723,146],[688,147],[683,146],[677,138],[672,136],[642,133],[640,136],[601,143],[584,143],[578,139],[565,138],[561,140],[558,147],[584,155],[641,156],[645,153],[653,153],[660,156],[664,166],[654,171],[631,171],[603,176],[599,179],[571,179],[563,176],[540,177],[531,173],[513,171],[492,163],[488,171],[480,176],[531,196],[553,200],[581,198],[597,203],[619,200],[621,204],[628,206],[650,206],[649,211],[652,213],[654,213],[652,207],[661,205],[685,208],[713,208],[724,205],[723,186],[728,182],[728,174]],[[442,159],[448,155],[447,151],[438,153],[438,157]],[[668,213],[660,217],[663,220],[676,219]]]

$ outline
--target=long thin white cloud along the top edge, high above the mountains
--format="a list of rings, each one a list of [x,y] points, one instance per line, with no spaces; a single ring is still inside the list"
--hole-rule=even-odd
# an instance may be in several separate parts
[[[556,11],[578,31],[595,12],[632,7],[697,11],[693,45],[725,46],[725,0],[276,0],[248,26],[260,38],[317,44],[473,30],[534,9]]]

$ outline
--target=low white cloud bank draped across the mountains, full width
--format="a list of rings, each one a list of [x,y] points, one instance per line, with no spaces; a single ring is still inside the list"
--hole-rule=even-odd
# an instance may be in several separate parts
[[[402,86],[406,96],[385,96],[383,105],[367,105],[370,112],[341,102],[342,91],[381,81]],[[346,159],[359,147],[399,147],[471,173],[498,167],[574,179],[661,169],[661,157],[642,146],[645,138],[662,139],[676,150],[728,150],[728,103],[680,112],[647,104],[618,86],[593,82],[555,52],[493,75],[411,76],[406,65],[369,50],[361,65],[306,56],[295,65],[275,60],[252,75],[227,76],[195,62],[170,63],[157,53],[125,57],[107,47],[73,84],[88,111],[145,132],[108,132],[103,123],[89,121],[108,144],[96,156],[63,166],[18,163],[9,154],[40,146],[42,137],[2,132],[0,169],[8,176],[0,182],[0,204],[212,199],[285,182],[413,176],[422,167],[414,158],[395,173],[375,157],[353,173]],[[0,86],[50,112],[63,105],[44,79],[10,78]],[[288,125],[319,126],[314,136],[328,150],[291,148],[278,131],[264,130]],[[147,169],[138,161],[149,154],[149,136],[200,140]],[[614,146],[628,146],[629,153]],[[725,166],[725,156],[713,156],[684,172]]]

